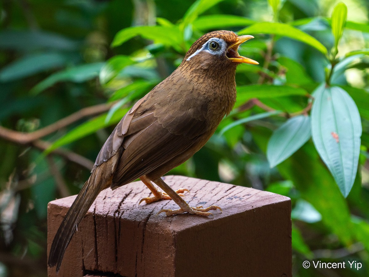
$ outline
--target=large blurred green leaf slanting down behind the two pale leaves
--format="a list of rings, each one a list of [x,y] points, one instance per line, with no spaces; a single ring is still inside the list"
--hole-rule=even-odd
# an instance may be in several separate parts
[[[260,127],[251,131],[256,143],[266,151],[269,130]],[[277,168],[283,178],[293,182],[300,192],[300,197],[321,214],[324,225],[336,234],[342,243],[351,244],[353,236],[347,202],[332,175],[321,163],[313,143],[304,144],[284,163],[277,165]]]

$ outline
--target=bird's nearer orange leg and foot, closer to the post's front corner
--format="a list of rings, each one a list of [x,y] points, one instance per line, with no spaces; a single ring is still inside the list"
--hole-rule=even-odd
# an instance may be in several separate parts
[[[193,215],[203,215],[203,216],[209,216],[209,215],[213,215],[212,213],[208,212],[210,210],[217,210],[219,209],[220,211],[222,211],[222,209],[218,206],[212,205],[208,208],[203,208],[203,206],[199,206],[199,207],[190,207],[186,201],[184,201],[181,196],[179,196],[171,187],[169,187],[162,178],[156,178],[154,180],[152,180],[156,185],[158,185],[163,191],[166,192],[166,194],[172,198],[172,200],[174,202],[176,202],[176,204],[179,206],[180,209],[177,210],[170,210],[170,209],[162,209],[160,210],[157,215],[159,213],[165,212],[166,215],[178,215],[180,213],[191,213]]]

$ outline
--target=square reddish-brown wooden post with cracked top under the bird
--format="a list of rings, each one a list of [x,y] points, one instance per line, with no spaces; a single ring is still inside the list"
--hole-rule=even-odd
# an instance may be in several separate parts
[[[184,198],[190,206],[218,205],[223,213],[156,216],[177,205],[138,205],[150,192],[142,182],[106,189],[78,226],[59,274],[54,267],[48,276],[292,276],[288,197],[182,176],[164,179],[190,190]],[[49,203],[48,251],[74,199]]]

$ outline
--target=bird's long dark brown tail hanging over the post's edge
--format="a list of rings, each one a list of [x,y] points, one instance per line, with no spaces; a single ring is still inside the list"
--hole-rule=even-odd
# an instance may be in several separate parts
[[[106,182],[106,178],[102,178],[99,173],[100,170],[92,171],[90,178],[83,185],[56,232],[48,259],[48,266],[54,267],[56,265],[56,272],[60,269],[65,250],[77,230],[77,225],[81,222],[99,192],[110,185]]]

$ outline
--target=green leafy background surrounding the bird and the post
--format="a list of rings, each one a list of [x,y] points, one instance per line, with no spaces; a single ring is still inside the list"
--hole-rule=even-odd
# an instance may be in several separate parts
[[[219,29],[254,35],[239,52],[260,65],[238,67],[235,109],[170,174],[289,196],[294,276],[369,276],[369,4],[344,3],[1,1],[0,125],[32,134],[107,109],[42,136],[47,147],[1,139],[0,276],[46,276],[47,203],[89,176],[52,151],[94,161],[129,107]],[[304,269],[312,259],[363,267]]]

